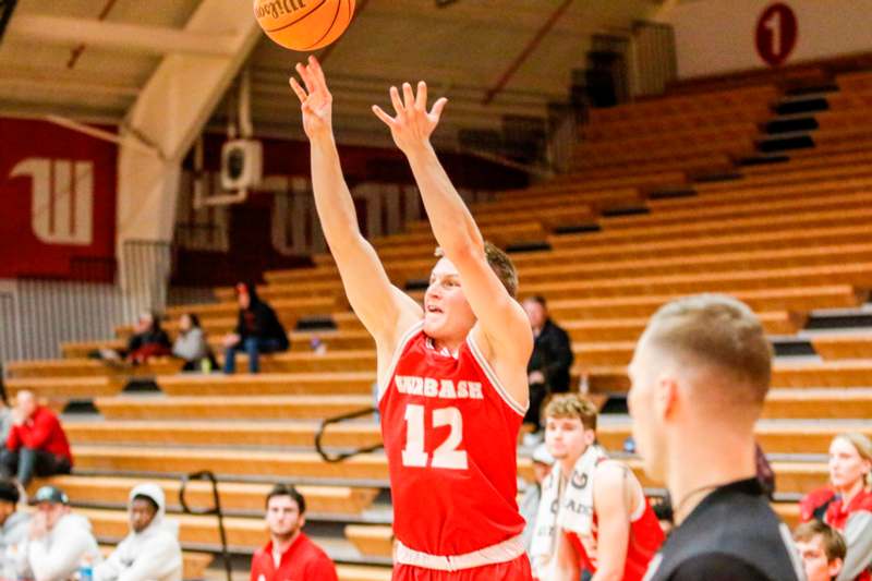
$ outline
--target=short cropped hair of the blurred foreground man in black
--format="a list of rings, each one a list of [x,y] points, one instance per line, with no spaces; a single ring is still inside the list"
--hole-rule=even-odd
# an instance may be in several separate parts
[[[677,299],[657,311],[642,341],[694,363],[712,365],[739,386],[736,403],[762,406],[772,378],[772,347],[751,308],[724,294]]]

